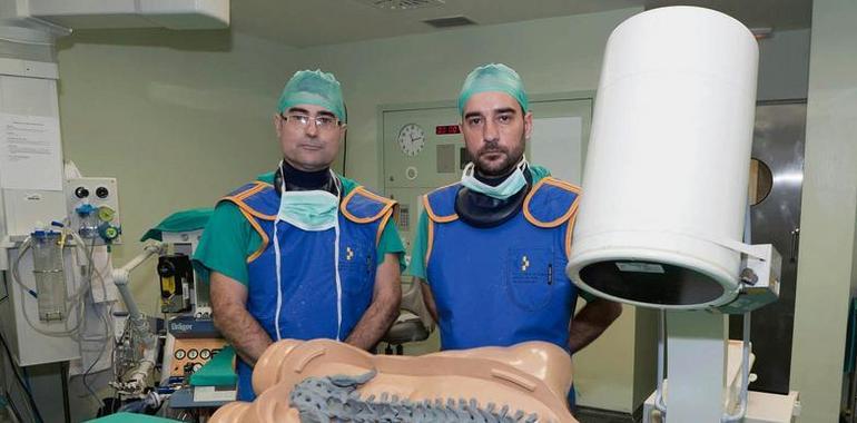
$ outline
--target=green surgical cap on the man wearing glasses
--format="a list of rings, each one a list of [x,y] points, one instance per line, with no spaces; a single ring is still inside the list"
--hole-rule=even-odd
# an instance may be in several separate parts
[[[339,81],[333,73],[321,70],[299,70],[286,82],[279,95],[277,111],[280,114],[297,105],[321,106],[336,115],[341,121],[347,121],[345,104],[342,99]]]

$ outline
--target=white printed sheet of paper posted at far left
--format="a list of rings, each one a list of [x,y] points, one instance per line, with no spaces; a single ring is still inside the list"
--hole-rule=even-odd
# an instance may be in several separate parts
[[[0,187],[62,190],[59,119],[0,114]]]

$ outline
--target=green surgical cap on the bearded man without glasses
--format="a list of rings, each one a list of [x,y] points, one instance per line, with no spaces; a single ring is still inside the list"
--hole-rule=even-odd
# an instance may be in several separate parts
[[[524,82],[518,72],[503,63],[490,63],[480,66],[467,75],[459,95],[459,114],[464,114],[464,105],[471,96],[486,91],[505,92],[518,100],[524,112],[530,109]]]

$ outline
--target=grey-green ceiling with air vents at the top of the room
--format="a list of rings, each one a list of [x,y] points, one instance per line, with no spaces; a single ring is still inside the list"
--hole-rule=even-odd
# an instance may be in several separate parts
[[[425,2],[427,7],[390,10],[373,2]],[[624,8],[690,4],[720,10],[750,28],[808,28],[811,0],[233,0],[236,31],[292,47],[312,47],[397,37],[449,28],[425,20],[463,16],[475,24],[496,24]]]

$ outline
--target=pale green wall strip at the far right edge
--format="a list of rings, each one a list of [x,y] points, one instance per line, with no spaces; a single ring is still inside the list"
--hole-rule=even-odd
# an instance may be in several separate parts
[[[857,220],[857,3],[816,0],[791,388],[802,422],[838,420]]]

